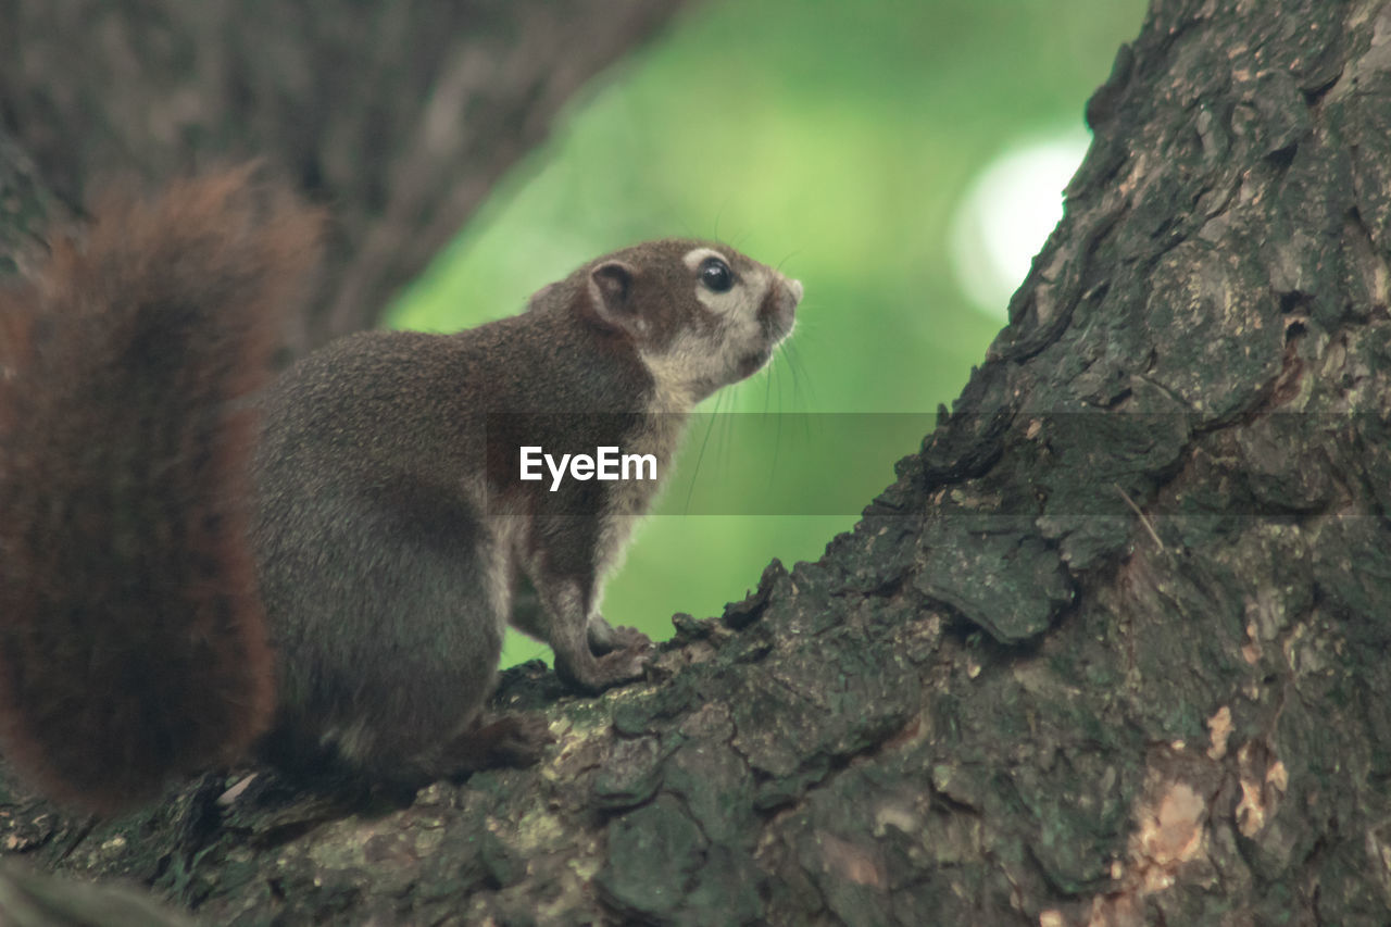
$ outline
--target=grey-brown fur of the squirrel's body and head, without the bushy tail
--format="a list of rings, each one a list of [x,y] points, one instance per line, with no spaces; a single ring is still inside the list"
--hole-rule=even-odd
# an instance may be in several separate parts
[[[509,619],[551,644],[577,689],[641,676],[648,639],[609,628],[597,603],[657,484],[549,493],[509,477],[520,443],[638,448],[665,472],[689,411],[669,398],[733,379],[712,356],[697,381],[659,383],[647,359],[690,333],[718,352],[722,320],[682,263],[697,246],[625,249],[547,287],[522,315],[453,335],[359,334],[281,377],[266,401],[255,532],[281,657],[278,763],[327,750],[378,779],[453,771]],[[766,358],[800,287],[705,246],[778,303],[783,327],[739,351]],[[515,608],[519,573],[538,607]]]

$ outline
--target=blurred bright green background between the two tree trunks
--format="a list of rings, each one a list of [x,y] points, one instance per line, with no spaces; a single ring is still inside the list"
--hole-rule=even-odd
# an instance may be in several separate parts
[[[519,312],[544,284],[644,238],[719,238],[805,284],[771,367],[702,412],[812,413],[750,441],[701,416],[609,582],[615,624],[670,636],[719,614],[771,557],[815,560],[893,482],[960,393],[1060,212],[1082,106],[1141,0],[723,0],[691,8],[570,107],[403,294],[391,324]],[[846,440],[844,416],[867,418]],[[762,419],[772,422],[772,419]],[[698,466],[697,466],[698,461]],[[696,489],[691,489],[691,475]],[[769,486],[818,515],[753,511]],[[719,505],[701,502],[708,493]],[[515,637],[505,663],[547,656]]]

